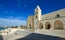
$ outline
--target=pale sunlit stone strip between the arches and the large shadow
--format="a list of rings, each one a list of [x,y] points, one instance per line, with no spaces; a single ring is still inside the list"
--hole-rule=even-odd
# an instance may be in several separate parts
[[[36,29],[35,33],[65,38],[65,30],[40,30],[40,29]]]

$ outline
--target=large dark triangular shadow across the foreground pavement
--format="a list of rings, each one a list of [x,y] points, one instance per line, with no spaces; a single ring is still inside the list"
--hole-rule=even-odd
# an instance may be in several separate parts
[[[31,33],[31,34],[27,35],[26,37],[19,38],[16,40],[65,40],[65,38],[44,35],[44,34]]]

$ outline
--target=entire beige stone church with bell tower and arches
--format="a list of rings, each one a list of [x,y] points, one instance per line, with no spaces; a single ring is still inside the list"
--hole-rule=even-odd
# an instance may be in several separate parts
[[[42,15],[40,7],[37,6],[34,16],[29,16],[27,19],[27,28],[63,30],[65,29],[65,9]]]

